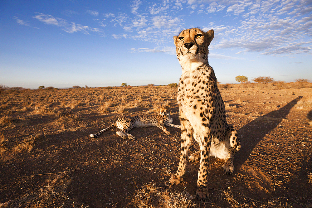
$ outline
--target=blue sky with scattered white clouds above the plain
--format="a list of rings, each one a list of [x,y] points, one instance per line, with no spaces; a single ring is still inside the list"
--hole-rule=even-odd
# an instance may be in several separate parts
[[[173,36],[213,29],[209,64],[237,75],[312,81],[312,1],[0,1],[0,84],[38,88],[168,85]]]

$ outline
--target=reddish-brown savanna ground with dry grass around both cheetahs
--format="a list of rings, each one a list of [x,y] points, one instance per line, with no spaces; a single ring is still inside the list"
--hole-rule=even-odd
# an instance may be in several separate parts
[[[300,89],[298,89],[300,88]],[[0,207],[312,207],[311,88],[220,85],[228,123],[239,132],[235,173],[209,164],[210,201],[194,199],[199,162],[177,171],[180,130],[109,130],[120,115],[154,115],[171,103],[168,86],[19,89],[0,94]],[[197,151],[193,140],[190,153]]]

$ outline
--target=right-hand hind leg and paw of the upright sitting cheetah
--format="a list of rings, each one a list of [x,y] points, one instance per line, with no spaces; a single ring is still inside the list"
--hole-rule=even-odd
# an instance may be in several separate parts
[[[234,155],[235,153],[241,148],[241,143],[239,138],[237,137],[237,131],[233,126],[228,126],[227,133],[226,133],[225,139],[230,140],[230,148],[229,148],[229,154],[227,158],[225,159],[225,162],[223,164],[223,170],[225,171],[225,174],[228,176],[234,173]]]

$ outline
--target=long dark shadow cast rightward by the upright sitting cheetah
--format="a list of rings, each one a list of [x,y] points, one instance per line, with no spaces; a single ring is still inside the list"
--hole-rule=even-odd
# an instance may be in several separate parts
[[[290,110],[301,98],[302,96],[297,97],[284,107],[260,116],[238,130],[241,140],[241,149],[238,152],[238,157],[236,157],[236,167],[238,170],[240,170],[242,165],[247,161],[251,151],[256,145],[266,137],[267,133],[278,127],[281,121],[289,114]],[[278,128],[282,128],[282,126]]]

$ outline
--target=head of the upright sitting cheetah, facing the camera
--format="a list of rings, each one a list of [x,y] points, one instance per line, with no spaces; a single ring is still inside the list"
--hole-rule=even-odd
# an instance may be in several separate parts
[[[208,46],[214,37],[214,31],[203,32],[199,28],[183,30],[178,36],[173,37],[177,47],[179,61],[204,61],[207,60]]]

